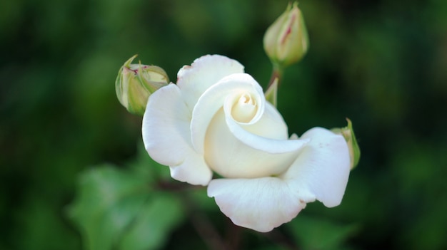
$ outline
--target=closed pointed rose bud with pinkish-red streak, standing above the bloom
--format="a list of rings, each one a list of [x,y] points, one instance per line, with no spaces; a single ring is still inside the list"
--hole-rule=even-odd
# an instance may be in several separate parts
[[[268,27],[263,38],[268,58],[282,68],[303,58],[308,49],[308,34],[298,4],[288,4],[286,11]]]

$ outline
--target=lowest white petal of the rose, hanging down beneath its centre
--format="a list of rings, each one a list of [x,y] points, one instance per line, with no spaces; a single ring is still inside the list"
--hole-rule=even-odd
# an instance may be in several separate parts
[[[208,196],[234,224],[261,232],[290,222],[306,207],[300,194],[276,177],[213,179]]]

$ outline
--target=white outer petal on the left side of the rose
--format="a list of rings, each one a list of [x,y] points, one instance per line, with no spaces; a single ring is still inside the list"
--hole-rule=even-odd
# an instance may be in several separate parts
[[[149,98],[143,117],[143,142],[149,155],[171,167],[171,176],[190,184],[206,185],[212,172],[191,145],[191,113],[179,87],[169,84]],[[191,175],[194,173],[194,175]]]

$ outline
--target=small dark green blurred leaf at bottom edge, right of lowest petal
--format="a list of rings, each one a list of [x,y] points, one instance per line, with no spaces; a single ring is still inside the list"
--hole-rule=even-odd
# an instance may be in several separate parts
[[[355,224],[335,224],[302,214],[286,225],[300,249],[346,249],[343,243],[358,230]]]

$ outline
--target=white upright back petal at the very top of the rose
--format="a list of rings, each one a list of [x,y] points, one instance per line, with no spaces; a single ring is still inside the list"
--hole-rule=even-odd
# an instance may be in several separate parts
[[[186,105],[193,110],[205,90],[233,73],[243,73],[243,66],[238,61],[219,55],[202,56],[194,60],[191,66],[180,69],[177,85],[181,88]]]

